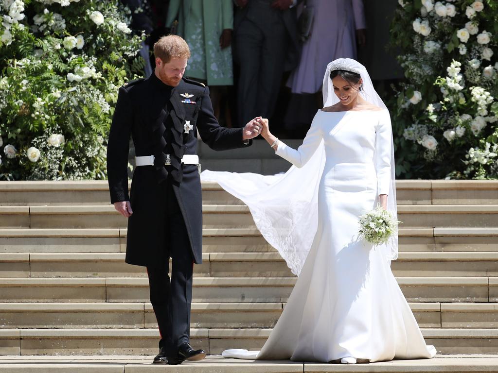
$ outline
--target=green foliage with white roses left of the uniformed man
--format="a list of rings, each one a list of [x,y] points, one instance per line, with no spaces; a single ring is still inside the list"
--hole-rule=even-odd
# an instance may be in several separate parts
[[[0,180],[105,179],[142,36],[119,1],[0,0]]]

